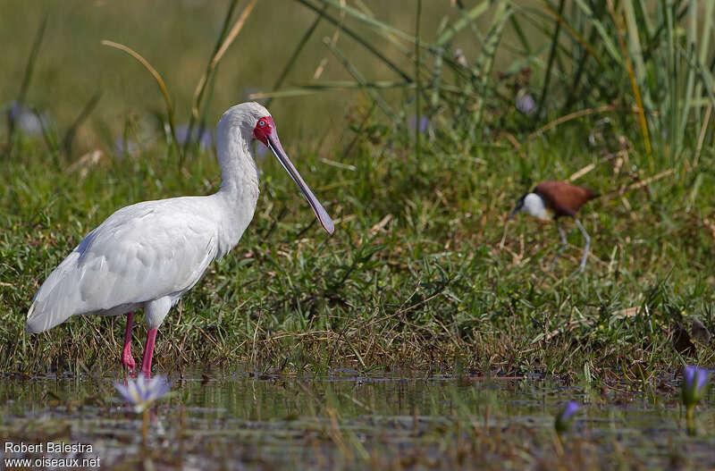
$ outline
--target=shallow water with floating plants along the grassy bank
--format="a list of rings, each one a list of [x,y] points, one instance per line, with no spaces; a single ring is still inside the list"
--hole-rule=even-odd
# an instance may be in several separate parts
[[[172,394],[151,408],[146,447],[142,416],[114,391],[119,378],[6,375],[3,442],[92,450],[3,458],[100,458],[104,469],[715,467],[712,391],[690,437],[672,378],[653,394],[650,384],[596,391],[538,375],[193,372],[172,376]],[[553,416],[572,399],[582,408],[559,442]]]

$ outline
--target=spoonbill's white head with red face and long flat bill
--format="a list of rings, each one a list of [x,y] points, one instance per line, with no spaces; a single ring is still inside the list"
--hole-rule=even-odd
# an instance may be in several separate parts
[[[293,164],[290,158],[283,150],[281,140],[278,139],[278,131],[275,129],[273,117],[264,106],[255,102],[241,103],[240,105],[231,106],[226,113],[223,114],[221,121],[218,123],[217,136],[220,138],[217,142],[218,153],[222,154],[221,138],[223,139],[239,139],[249,143],[257,139],[265,147],[268,147],[273,155],[278,159],[290,178],[295,181],[296,185],[303,195],[306,197],[308,204],[313,208],[315,216],[323,225],[325,231],[332,234],[334,226],[332,219],[325,211],[323,205],[320,204],[313,192],[307,187],[307,184],[300,177],[300,173]]]

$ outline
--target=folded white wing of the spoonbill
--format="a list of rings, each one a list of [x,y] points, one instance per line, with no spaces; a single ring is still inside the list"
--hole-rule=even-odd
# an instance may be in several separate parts
[[[119,315],[165,296],[176,302],[217,255],[210,205],[206,197],[172,198],[109,216],[42,284],[29,307],[28,332],[71,315]]]

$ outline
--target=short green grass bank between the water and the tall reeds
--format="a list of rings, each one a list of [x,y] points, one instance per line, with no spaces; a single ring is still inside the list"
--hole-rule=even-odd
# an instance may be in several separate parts
[[[688,328],[691,316],[710,329],[715,323],[706,227],[715,176],[703,166],[654,181],[624,195],[631,209],[621,198],[593,201],[581,215],[593,238],[585,273],[570,275],[583,244],[572,226],[573,247],[550,272],[558,241],[552,225],[517,219],[500,248],[504,216],[518,196],[533,181],[568,178],[591,163],[579,183],[608,193],[631,182],[601,162],[604,151],[589,147],[585,126],[566,128],[527,144],[528,160],[500,145],[467,154],[446,139],[424,146],[419,161],[400,139],[389,146],[360,139],[348,156],[338,149],[324,157],[286,142],[336,220],[334,236],[313,222],[273,159],[261,162],[254,221],[167,317],[158,368],[200,361],[257,371],[582,374],[587,366],[595,377],[634,364],[647,375],[676,368],[683,361],[673,345],[677,324]],[[75,318],[27,337],[32,295],[115,209],[216,189],[214,156],[183,171],[158,147],[68,172],[30,142],[18,152],[0,186],[0,367],[115,368],[123,319]],[[623,316],[629,307],[638,314]],[[139,345],[143,329],[136,335]],[[711,364],[712,353],[698,346],[688,361]]]

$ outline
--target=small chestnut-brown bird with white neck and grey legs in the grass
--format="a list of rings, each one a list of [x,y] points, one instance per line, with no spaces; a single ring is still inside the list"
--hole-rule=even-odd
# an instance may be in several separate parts
[[[551,263],[551,268],[553,268],[561,252],[563,252],[567,246],[566,233],[559,224],[559,218],[563,216],[573,217],[578,229],[584,234],[586,241],[584,255],[581,257],[581,266],[579,268],[579,271],[583,272],[586,266],[586,257],[588,257],[588,249],[591,247],[591,238],[588,236],[588,232],[586,232],[584,226],[578,221],[578,218],[576,218],[576,213],[586,202],[593,198],[598,198],[598,196],[599,195],[591,189],[577,187],[566,181],[542,181],[536,185],[532,191],[519,198],[517,207],[509,214],[507,220],[523,211],[526,214],[533,215],[537,219],[543,221],[553,220],[556,223],[556,229],[559,231],[561,238],[561,247]]]

